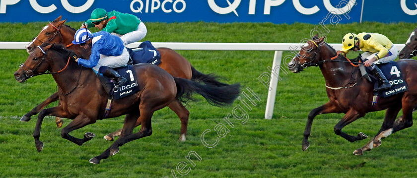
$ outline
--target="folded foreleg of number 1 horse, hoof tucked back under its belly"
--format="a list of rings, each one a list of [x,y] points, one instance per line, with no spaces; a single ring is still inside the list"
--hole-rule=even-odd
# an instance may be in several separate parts
[[[75,137],[71,136],[69,133],[72,130],[76,130],[76,129],[81,128],[85,125],[95,123],[95,122],[96,122],[96,119],[90,119],[87,116],[85,116],[84,114],[78,115],[66,127],[64,127],[61,130],[61,136],[65,139],[70,140],[71,142],[81,146],[84,142],[87,142],[88,140],[91,140],[93,137],[95,137],[95,134],[91,133],[91,132],[87,132],[87,133],[84,134],[84,138],[80,139],[80,138],[75,138]]]

